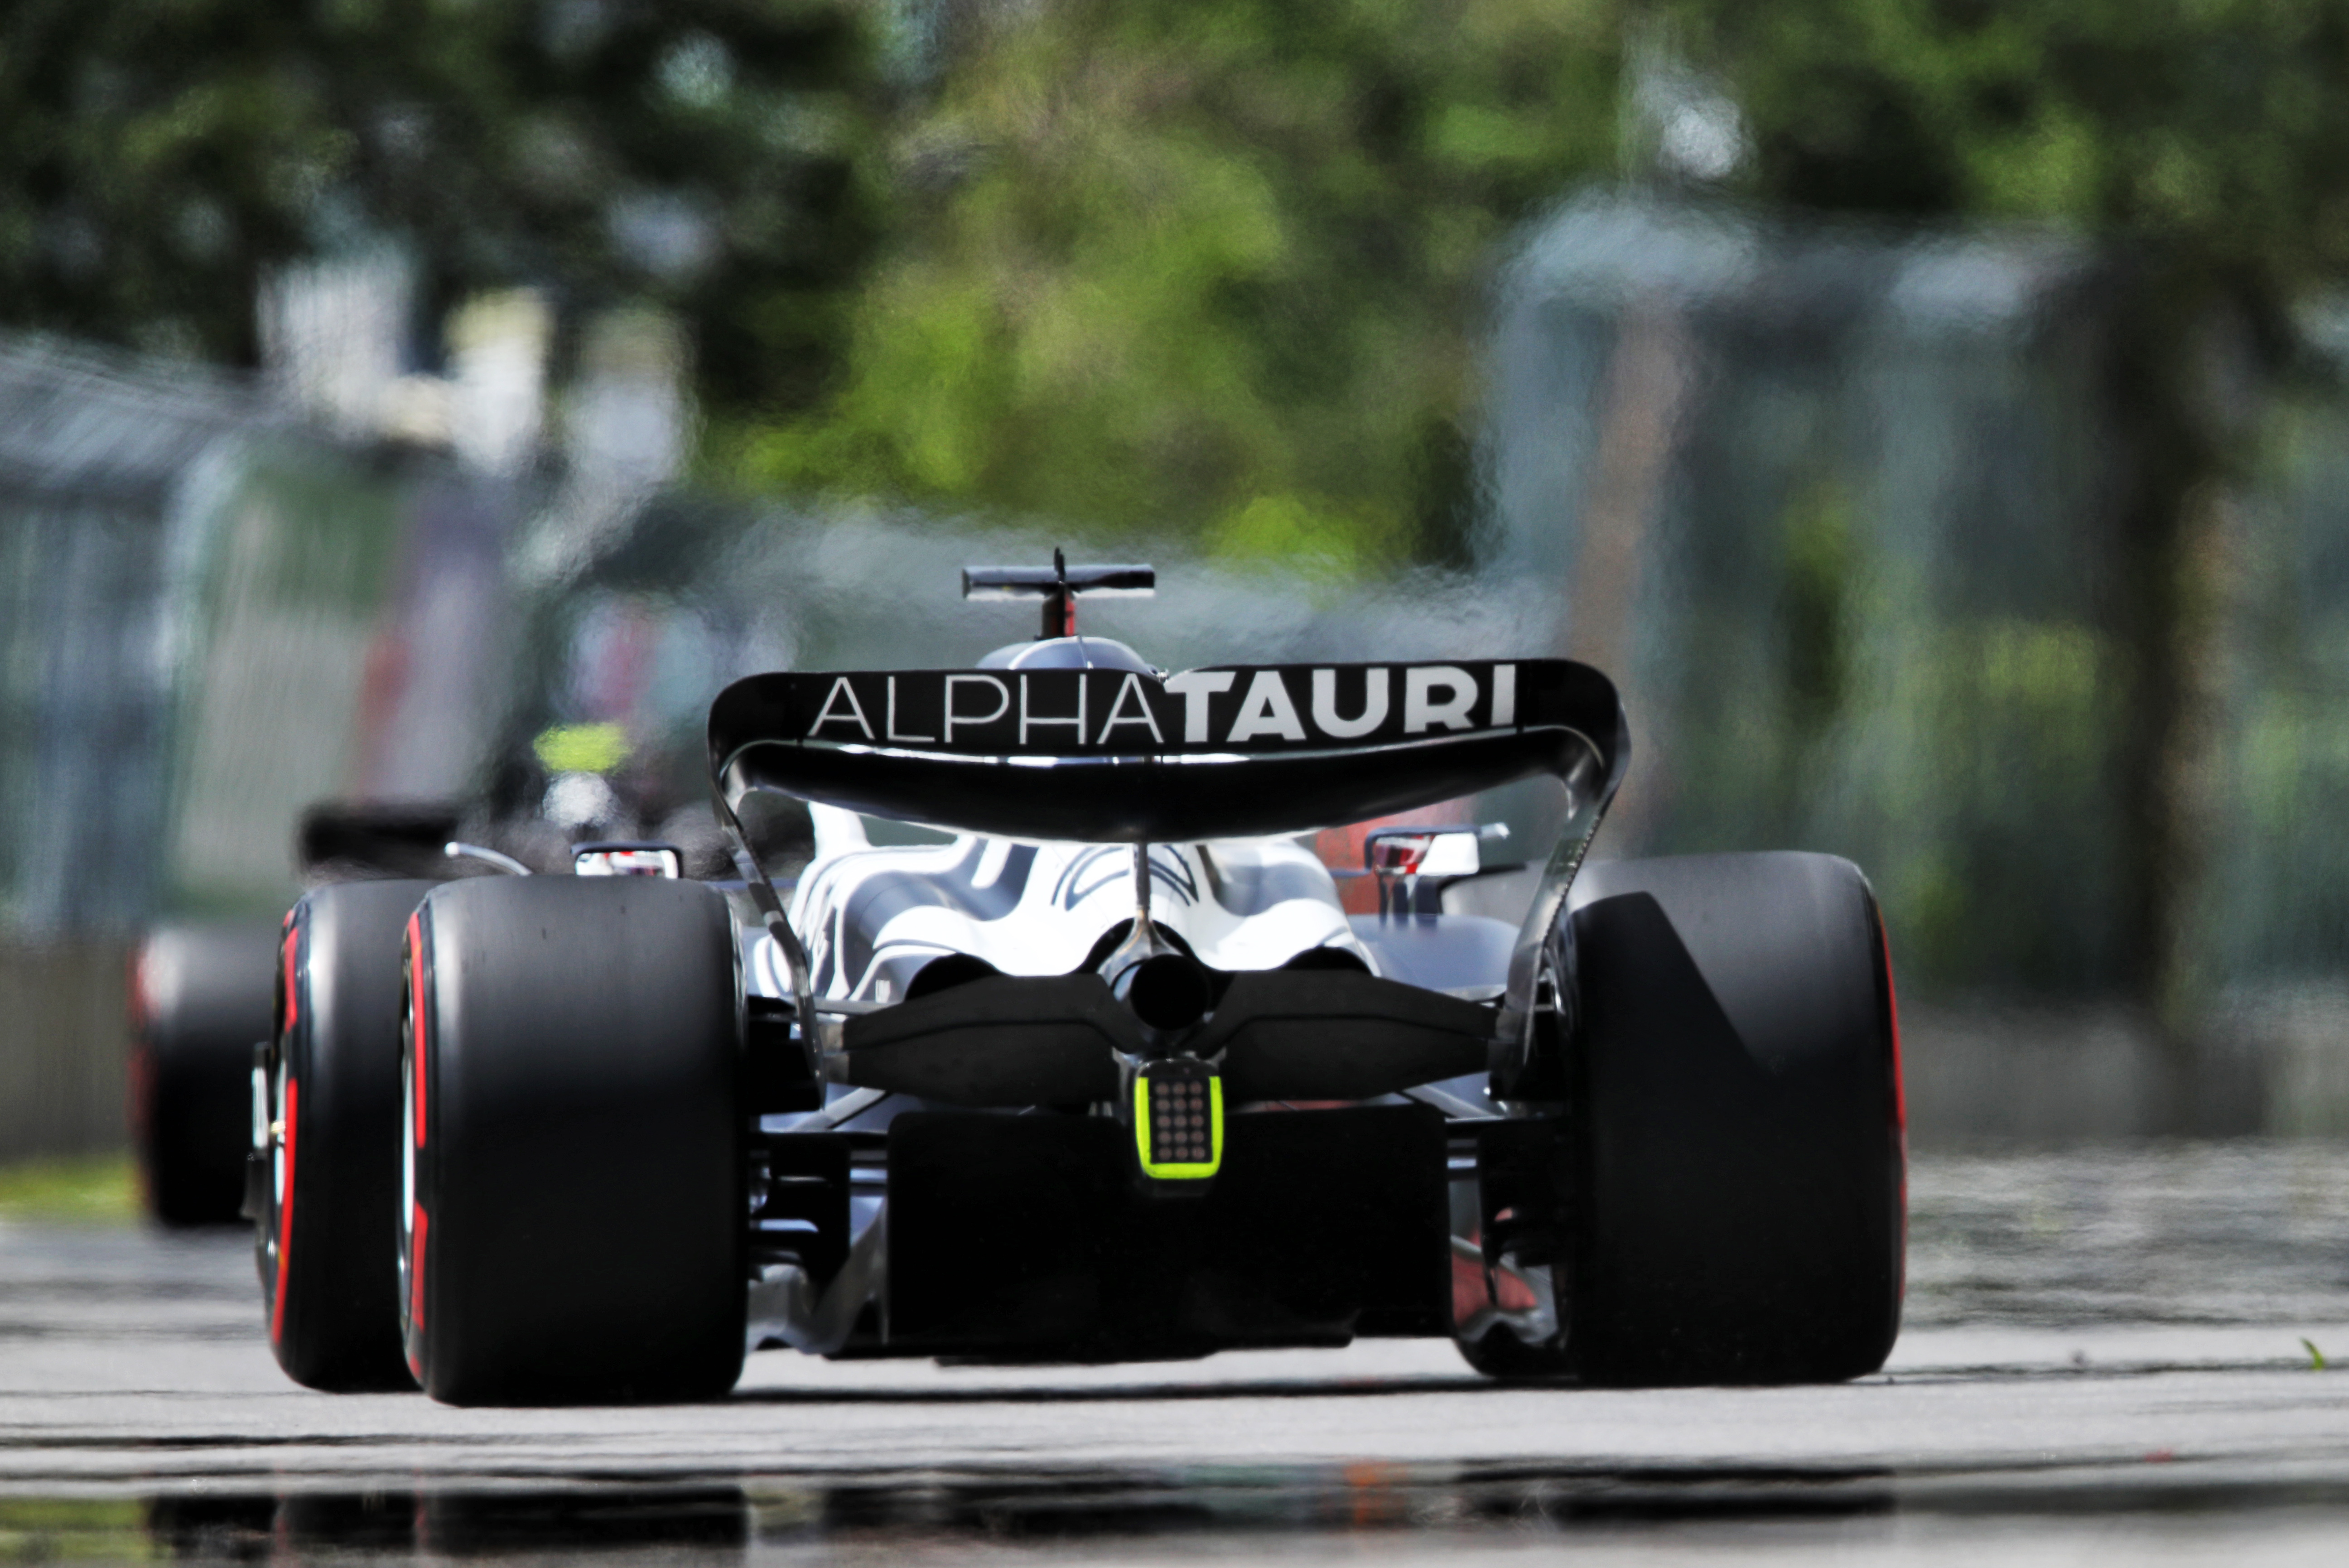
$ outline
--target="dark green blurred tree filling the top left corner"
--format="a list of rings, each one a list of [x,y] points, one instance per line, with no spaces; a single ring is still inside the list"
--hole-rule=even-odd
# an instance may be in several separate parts
[[[251,361],[261,277],[684,315],[705,399],[822,390],[879,232],[853,0],[12,0],[0,319]]]

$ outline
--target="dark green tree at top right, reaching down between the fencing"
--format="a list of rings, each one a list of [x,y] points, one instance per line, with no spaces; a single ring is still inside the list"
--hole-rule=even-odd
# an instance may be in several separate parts
[[[1738,181],[1811,209],[2048,221],[2107,246],[2119,505],[2105,690],[2128,979],[2199,1005],[2201,784],[2225,491],[2295,307],[2349,279],[2349,9],[2337,0],[1661,0],[1661,38],[1745,120]]]

